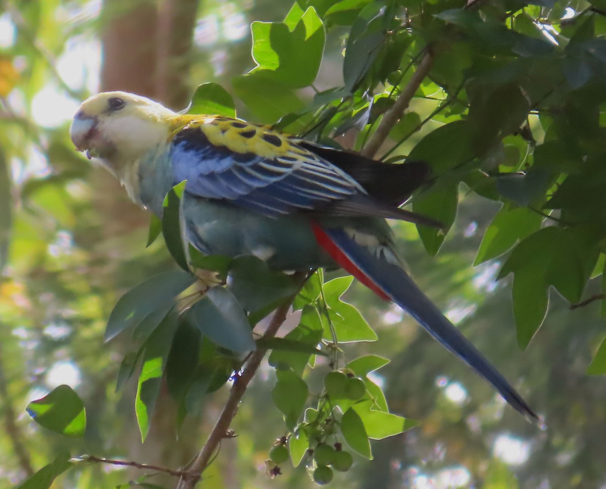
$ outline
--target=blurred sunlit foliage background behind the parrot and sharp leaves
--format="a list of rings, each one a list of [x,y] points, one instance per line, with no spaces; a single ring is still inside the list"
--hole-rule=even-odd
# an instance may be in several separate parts
[[[573,7],[580,12],[587,5]],[[161,240],[145,249],[147,215],[110,175],[75,152],[67,129],[79,101],[99,90],[130,90],[179,109],[204,81],[230,89],[233,76],[255,66],[250,22],[279,21],[288,8],[289,2],[276,0],[0,2],[2,487],[18,483],[63,448],[178,467],[201,447],[225,390],[208,397],[178,439],[175,405],[161,396],[143,445],[133,411],[135,384],[115,391],[128,339],[102,344],[108,314],[128,288],[174,265]],[[537,18],[541,7],[528,7],[527,13]],[[343,40],[339,30],[330,32],[318,89],[342,83]],[[433,107],[430,97],[419,98],[411,112],[421,120]],[[238,108],[247,115],[245,107]],[[347,138],[341,143],[352,144]],[[461,198],[466,192],[461,189]],[[499,260],[471,266],[498,209],[468,195],[436,258],[427,256],[414,228],[395,229],[422,288],[547,415],[548,430],[537,430],[505,408],[488,385],[413,320],[358,286],[350,300],[375,326],[379,341],[354,351],[393,360],[375,380],[384,386],[391,409],[421,426],[376,443],[375,460],[358,460],[335,487],[606,484],[606,388],[602,378],[585,376],[604,335],[598,306],[569,311],[552,294],[547,322],[521,352],[507,280],[494,282]],[[592,283],[590,292],[593,288]],[[63,383],[87,406],[84,440],[53,436],[25,415],[29,400]],[[286,468],[273,481],[265,474],[268,448],[282,434],[276,428],[281,415],[268,402],[274,383],[273,371],[262,369],[238,411],[233,426],[238,437],[222,444],[204,487],[313,485],[304,467]],[[92,465],[68,473],[53,487],[115,487],[136,474]]]

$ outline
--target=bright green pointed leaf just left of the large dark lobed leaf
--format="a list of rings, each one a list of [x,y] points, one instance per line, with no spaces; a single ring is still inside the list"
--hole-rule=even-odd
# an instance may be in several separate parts
[[[544,219],[541,214],[531,211],[528,207],[502,207],[486,229],[473,265],[504,254],[518,241],[538,231]]]

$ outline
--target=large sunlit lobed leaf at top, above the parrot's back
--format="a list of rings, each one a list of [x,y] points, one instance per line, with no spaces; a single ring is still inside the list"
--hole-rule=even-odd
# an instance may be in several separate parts
[[[271,81],[298,89],[313,83],[324,52],[324,25],[313,7],[304,13],[295,4],[285,22],[253,22],[251,73],[261,71]]]

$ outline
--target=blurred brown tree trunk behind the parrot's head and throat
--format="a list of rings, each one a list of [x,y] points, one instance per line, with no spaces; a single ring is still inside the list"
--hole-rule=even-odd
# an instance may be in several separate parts
[[[198,0],[104,0],[101,91],[124,90],[181,109],[190,97],[189,73]],[[128,201],[107,172],[98,171],[96,206],[107,217],[104,236],[119,237],[148,217]]]

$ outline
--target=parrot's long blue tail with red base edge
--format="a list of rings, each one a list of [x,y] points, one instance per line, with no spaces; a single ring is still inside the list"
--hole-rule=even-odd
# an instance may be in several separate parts
[[[316,226],[314,231],[318,241],[339,265],[379,295],[387,296],[408,311],[431,336],[490,382],[514,409],[538,422],[538,416],[505,377],[444,317],[401,267],[371,254],[342,229]],[[334,246],[328,243],[329,240]]]

